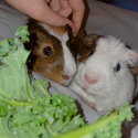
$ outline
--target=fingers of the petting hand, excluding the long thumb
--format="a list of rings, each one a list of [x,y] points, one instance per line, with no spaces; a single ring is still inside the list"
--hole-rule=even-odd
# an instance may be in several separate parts
[[[81,28],[85,6],[83,0],[50,0],[50,7],[59,14],[68,18],[73,13],[72,22],[75,25],[73,33],[76,34]]]

